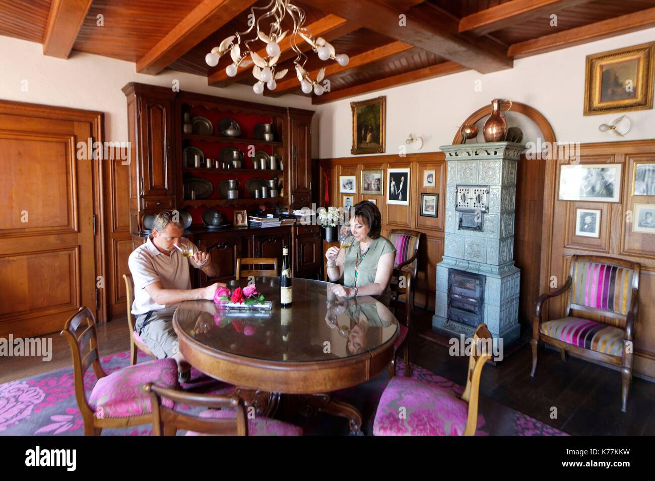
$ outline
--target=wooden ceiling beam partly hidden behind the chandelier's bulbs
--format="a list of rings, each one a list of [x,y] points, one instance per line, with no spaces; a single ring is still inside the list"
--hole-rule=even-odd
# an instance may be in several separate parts
[[[320,20],[316,20],[316,22],[313,22],[307,26],[307,29],[312,33],[312,35],[314,35],[314,37],[323,37],[328,42],[333,41],[334,39],[338,39],[339,37],[343,37],[344,35],[348,35],[348,33],[359,28],[360,26],[352,22],[348,22],[347,20],[336,15],[326,15],[323,18],[320,18]],[[288,34],[286,37],[284,37],[284,39],[282,39],[282,42],[280,42],[280,60],[278,60],[278,64],[297,56],[296,52],[294,52],[291,48],[291,40],[292,35]],[[309,43],[305,42],[303,39],[301,39],[301,37],[298,37],[298,40],[299,43],[297,46],[301,52],[307,52],[312,48]],[[266,58],[268,56],[266,53],[266,46],[264,45],[262,48],[257,50],[257,54],[259,54],[259,56],[262,58]],[[234,82],[245,79],[248,77],[248,75],[252,75],[251,63],[249,67],[239,67],[236,75],[234,77],[229,77],[229,75],[225,73],[225,67],[232,63],[232,60],[229,54],[226,54],[224,59],[225,60],[221,59],[222,62],[218,64],[217,70],[214,73],[208,75],[207,83],[209,85],[214,87],[225,87],[233,84]],[[293,75],[295,77],[295,70],[290,71],[287,75]]]

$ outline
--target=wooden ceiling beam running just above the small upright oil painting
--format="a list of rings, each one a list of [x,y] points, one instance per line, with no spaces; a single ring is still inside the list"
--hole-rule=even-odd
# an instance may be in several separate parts
[[[354,85],[341,90],[332,90],[331,92],[326,92],[322,96],[314,95],[312,96],[312,104],[318,105],[320,103],[333,102],[346,97],[368,94],[370,92],[375,92],[375,90],[411,84],[412,82],[419,82],[420,80],[434,79],[435,77],[450,75],[451,73],[462,72],[464,70],[468,70],[468,68],[458,65],[455,62],[437,63],[436,65],[430,65],[430,67],[424,67],[422,69],[393,75],[392,77],[386,77],[386,79],[373,80],[373,82]]]

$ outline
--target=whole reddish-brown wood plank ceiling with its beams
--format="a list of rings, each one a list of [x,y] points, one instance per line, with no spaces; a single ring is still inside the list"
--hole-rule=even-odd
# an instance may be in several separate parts
[[[87,52],[134,62],[137,71],[151,75],[163,69],[203,75],[219,92],[255,79],[250,68],[227,77],[229,56],[216,67],[208,67],[204,56],[247,28],[251,5],[269,1],[0,0],[0,35],[43,43],[46,55]],[[312,103],[466,69],[508,69],[515,58],[655,26],[655,0],[303,0],[297,5],[314,36],[350,57],[341,67],[301,45],[311,77],[327,67],[330,81],[330,91],[313,96]],[[301,94],[293,75],[295,54],[288,41],[280,46],[278,70],[290,73],[265,95]]]

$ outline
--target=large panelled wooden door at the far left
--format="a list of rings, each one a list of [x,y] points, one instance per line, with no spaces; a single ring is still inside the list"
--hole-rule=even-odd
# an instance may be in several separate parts
[[[78,158],[77,143],[99,128],[100,113],[0,103],[0,337],[55,332],[80,306],[96,311],[98,161]]]

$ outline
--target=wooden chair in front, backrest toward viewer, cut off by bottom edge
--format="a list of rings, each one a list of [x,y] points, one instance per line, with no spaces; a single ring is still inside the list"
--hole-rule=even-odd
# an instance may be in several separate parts
[[[284,421],[254,416],[246,419],[243,402],[235,393],[230,395],[196,394],[160,387],[154,383],[143,386],[153,406],[153,435],[175,436],[186,429],[186,436],[302,436],[303,429]],[[208,409],[198,416],[168,408],[162,399]]]

